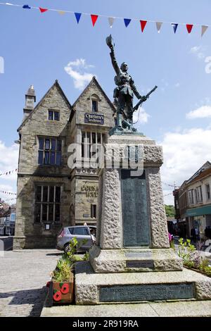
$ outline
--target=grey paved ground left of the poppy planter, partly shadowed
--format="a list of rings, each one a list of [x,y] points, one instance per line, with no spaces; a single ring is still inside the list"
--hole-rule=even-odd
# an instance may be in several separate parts
[[[51,255],[49,255],[51,254]],[[5,251],[0,257],[0,316],[40,316],[58,251]]]

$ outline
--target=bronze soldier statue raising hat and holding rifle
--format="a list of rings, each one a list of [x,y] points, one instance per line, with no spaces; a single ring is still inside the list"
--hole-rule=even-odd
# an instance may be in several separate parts
[[[106,38],[106,43],[110,48],[110,58],[113,64],[113,68],[115,70],[115,85],[117,87],[114,89],[114,98],[117,102],[117,127],[118,130],[123,130],[123,127],[128,127],[129,129],[136,131],[133,127],[133,113],[139,108],[139,105],[142,104],[143,101],[148,99],[149,95],[155,90],[154,89],[149,92],[146,96],[141,96],[136,86],[134,85],[134,80],[127,73],[127,63],[123,62],[120,67],[117,64],[117,60],[115,58],[114,52],[114,44],[111,35]],[[134,94],[137,99],[139,99],[139,103],[133,107],[133,98]]]

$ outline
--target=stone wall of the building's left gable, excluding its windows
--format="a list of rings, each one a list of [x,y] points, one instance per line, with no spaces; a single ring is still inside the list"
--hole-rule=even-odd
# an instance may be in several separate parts
[[[60,112],[60,120],[49,120],[49,109]],[[55,247],[60,227],[70,222],[70,169],[67,164],[70,104],[56,82],[20,127],[20,159],[18,165],[17,214],[14,248]],[[38,137],[62,140],[62,162],[38,165]],[[34,223],[36,185],[61,185],[60,222],[45,230],[44,223]],[[47,222],[46,222],[47,223]]]

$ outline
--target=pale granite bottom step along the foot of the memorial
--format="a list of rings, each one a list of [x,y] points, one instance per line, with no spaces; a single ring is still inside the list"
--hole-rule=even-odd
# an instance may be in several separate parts
[[[211,301],[44,307],[41,317],[210,317]]]

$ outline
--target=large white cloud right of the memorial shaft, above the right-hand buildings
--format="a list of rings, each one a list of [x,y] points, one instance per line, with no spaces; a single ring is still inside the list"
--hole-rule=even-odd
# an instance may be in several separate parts
[[[211,130],[193,128],[181,132],[167,132],[162,142],[159,142],[163,147],[164,164],[161,168],[162,181],[177,186],[180,186],[184,180],[196,173],[206,161],[211,161]],[[174,187],[165,189],[171,192]],[[166,196],[165,203],[170,204],[173,197]]]

